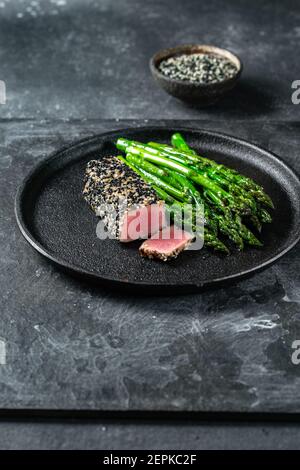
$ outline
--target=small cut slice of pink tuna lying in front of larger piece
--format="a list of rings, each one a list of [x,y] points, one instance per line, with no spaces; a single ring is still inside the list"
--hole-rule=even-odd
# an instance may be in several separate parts
[[[140,254],[147,258],[168,261],[176,258],[195,238],[175,225],[165,227],[140,246]]]

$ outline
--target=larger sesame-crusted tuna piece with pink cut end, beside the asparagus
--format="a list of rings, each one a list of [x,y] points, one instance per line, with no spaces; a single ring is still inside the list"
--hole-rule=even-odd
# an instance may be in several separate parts
[[[166,225],[163,201],[118,158],[90,161],[84,183],[85,200],[120,241],[148,238]]]

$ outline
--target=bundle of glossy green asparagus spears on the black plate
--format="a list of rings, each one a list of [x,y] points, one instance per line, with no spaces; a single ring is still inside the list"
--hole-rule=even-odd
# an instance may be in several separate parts
[[[220,236],[229,238],[240,250],[245,243],[262,246],[248,224],[260,232],[262,224],[272,220],[268,209],[273,208],[273,202],[263,188],[236,170],[198,155],[179,133],[172,135],[171,144],[119,138],[116,146],[126,155],[119,158],[172,210],[175,223],[185,203],[195,210],[204,207],[207,246],[228,253]]]

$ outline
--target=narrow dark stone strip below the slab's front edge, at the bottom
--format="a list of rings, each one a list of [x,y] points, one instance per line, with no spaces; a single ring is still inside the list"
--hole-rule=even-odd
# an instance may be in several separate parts
[[[2,449],[298,449],[297,424],[189,421],[10,421]]]

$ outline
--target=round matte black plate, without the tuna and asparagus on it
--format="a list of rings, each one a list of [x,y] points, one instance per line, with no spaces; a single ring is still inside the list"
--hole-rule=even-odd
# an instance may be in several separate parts
[[[230,256],[222,256],[204,248],[162,263],[141,258],[140,242],[121,244],[96,237],[98,219],[82,198],[86,163],[115,154],[113,142],[119,136],[167,143],[178,130],[199,153],[254,178],[271,195],[276,209],[273,223],[263,229],[263,249],[234,250]],[[15,207],[22,234],[39,253],[73,274],[135,288],[137,293],[177,294],[236,280],[276,261],[296,244],[300,234],[300,182],[289,167],[248,142],[192,129],[118,130],[64,148],[25,179]]]

